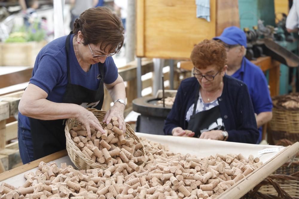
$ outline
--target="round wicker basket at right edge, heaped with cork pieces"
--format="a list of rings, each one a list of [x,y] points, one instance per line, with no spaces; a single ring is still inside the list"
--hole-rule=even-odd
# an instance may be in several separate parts
[[[280,139],[299,141],[299,93],[272,98],[273,117],[269,131],[276,144]]]

